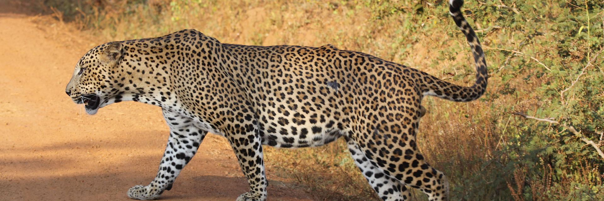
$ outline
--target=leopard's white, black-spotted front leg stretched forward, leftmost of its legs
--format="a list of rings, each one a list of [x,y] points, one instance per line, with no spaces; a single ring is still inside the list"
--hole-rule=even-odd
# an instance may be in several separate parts
[[[178,113],[164,110],[170,126],[170,137],[155,179],[147,185],[128,190],[128,197],[137,200],[155,200],[164,190],[170,190],[182,168],[193,158],[207,132],[193,126],[191,120]]]

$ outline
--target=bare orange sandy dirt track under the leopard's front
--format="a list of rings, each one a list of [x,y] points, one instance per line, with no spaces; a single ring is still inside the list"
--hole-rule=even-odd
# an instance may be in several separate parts
[[[65,94],[82,33],[51,34],[0,0],[0,200],[130,200],[155,177],[168,138],[159,107],[119,103],[86,115]],[[79,37],[82,36],[82,37]],[[68,37],[79,39],[71,40]],[[208,136],[161,200],[235,200],[248,185],[228,143]],[[271,176],[269,200],[312,200]]]

